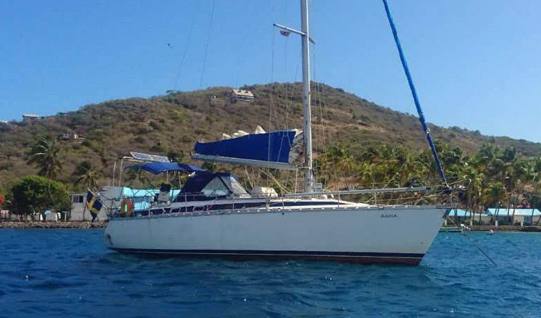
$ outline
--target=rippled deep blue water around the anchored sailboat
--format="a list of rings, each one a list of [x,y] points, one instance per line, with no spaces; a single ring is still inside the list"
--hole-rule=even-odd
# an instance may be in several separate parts
[[[0,230],[0,317],[541,317],[541,234],[440,233],[418,267],[144,258]]]

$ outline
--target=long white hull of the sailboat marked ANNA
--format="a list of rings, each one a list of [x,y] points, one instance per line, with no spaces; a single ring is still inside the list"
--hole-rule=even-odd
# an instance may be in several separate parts
[[[446,211],[353,205],[112,218],[105,245],[129,253],[418,264]]]

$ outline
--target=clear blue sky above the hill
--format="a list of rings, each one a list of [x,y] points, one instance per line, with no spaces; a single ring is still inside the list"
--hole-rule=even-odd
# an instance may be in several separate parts
[[[425,117],[541,141],[541,1],[388,0]],[[0,0],[0,120],[300,81],[297,0]],[[312,0],[314,80],[416,114],[381,0]],[[315,57],[315,58],[314,58]]]

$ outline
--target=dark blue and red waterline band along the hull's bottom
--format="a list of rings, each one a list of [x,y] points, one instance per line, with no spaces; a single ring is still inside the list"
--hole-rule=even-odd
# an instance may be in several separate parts
[[[121,253],[145,255],[178,255],[184,257],[222,257],[235,260],[324,260],[359,264],[417,265],[424,254],[415,253],[354,253],[320,251],[253,251],[253,250],[164,250],[150,248],[111,248]]]

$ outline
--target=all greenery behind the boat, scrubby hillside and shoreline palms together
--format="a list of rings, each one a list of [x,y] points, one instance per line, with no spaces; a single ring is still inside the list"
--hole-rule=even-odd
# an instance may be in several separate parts
[[[99,189],[109,183],[114,163],[130,151],[165,154],[189,161],[195,141],[213,141],[222,133],[303,127],[301,86],[244,86],[253,103],[231,104],[231,88],[172,91],[150,98],[91,104],[36,122],[0,123],[0,184],[4,191],[20,186],[25,175],[62,182],[70,191]],[[317,181],[325,189],[440,184],[432,154],[418,118],[378,106],[340,88],[312,83],[314,157]],[[412,108],[413,109],[413,108]],[[429,124],[448,182],[468,209],[518,205],[540,206],[541,144],[478,131]],[[57,141],[76,132],[84,139]],[[206,168],[222,170],[220,164]],[[291,173],[234,168],[245,184],[266,181],[277,191],[299,190]],[[162,180],[132,171],[125,180],[153,186]],[[179,186],[182,178],[172,182]],[[36,184],[39,184],[36,183]],[[9,191],[8,191],[9,192]],[[13,193],[6,193],[9,201]],[[363,197],[396,199],[404,196]],[[426,198],[411,198],[425,202]],[[36,207],[27,207],[35,211]],[[22,207],[17,207],[22,211]]]

